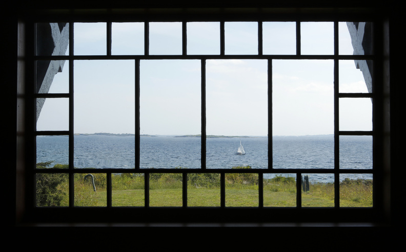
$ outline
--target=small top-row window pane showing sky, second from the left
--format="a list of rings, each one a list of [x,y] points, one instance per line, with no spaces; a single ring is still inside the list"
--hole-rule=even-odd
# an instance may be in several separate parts
[[[75,55],[107,55],[107,26],[105,22],[75,23]]]

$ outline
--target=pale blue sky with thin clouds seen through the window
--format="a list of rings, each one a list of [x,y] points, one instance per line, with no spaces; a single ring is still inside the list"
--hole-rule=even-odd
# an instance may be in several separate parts
[[[226,22],[225,53],[257,54],[257,23]],[[218,55],[218,22],[187,26],[188,54]],[[294,22],[263,23],[263,54],[296,53]],[[75,55],[106,55],[106,23],[74,25]],[[302,54],[333,54],[333,22],[302,22]],[[150,23],[151,55],[181,54],[181,23]],[[339,52],[352,55],[345,22]],[[112,54],[144,54],[143,23],[113,23]],[[272,60],[272,134],[334,133],[332,60]],[[75,60],[74,133],[134,133],[134,60]],[[367,93],[353,60],[339,63],[339,91]],[[69,64],[49,93],[67,93]],[[200,60],[141,60],[140,133],[201,133]],[[206,61],[206,133],[268,135],[268,61]],[[48,98],[37,130],[68,130],[68,99]],[[369,98],[340,98],[340,130],[371,130]]]

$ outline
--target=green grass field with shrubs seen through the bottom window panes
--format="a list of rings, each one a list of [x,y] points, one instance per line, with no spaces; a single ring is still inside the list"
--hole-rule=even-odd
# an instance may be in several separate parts
[[[107,205],[106,174],[94,174],[96,191],[87,174],[74,175],[74,206],[105,207]],[[188,175],[188,207],[220,207],[219,174]],[[37,174],[37,206],[68,206],[66,174]],[[112,175],[113,207],[144,207],[145,181],[143,174]],[[340,183],[340,207],[372,207],[372,180],[344,179]],[[296,207],[296,180],[276,176],[263,180],[264,207]],[[226,207],[258,207],[258,175],[226,174]],[[311,184],[301,192],[302,207],[334,207],[334,184]],[[149,181],[150,207],[181,207],[182,176],[178,173],[151,174]]]

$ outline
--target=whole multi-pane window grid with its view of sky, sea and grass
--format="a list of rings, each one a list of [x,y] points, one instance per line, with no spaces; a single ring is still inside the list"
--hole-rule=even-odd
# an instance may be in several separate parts
[[[371,32],[36,24],[36,206],[372,207]]]

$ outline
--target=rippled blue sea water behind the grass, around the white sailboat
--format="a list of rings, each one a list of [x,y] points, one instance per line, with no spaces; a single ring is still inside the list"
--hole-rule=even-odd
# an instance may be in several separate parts
[[[68,164],[68,136],[37,136],[37,163],[54,161]],[[238,155],[239,141],[246,151]],[[174,136],[141,136],[140,168],[200,168],[201,139]],[[134,136],[75,135],[75,168],[134,168]],[[206,140],[206,167],[232,168],[251,166],[268,168],[268,138],[208,138]],[[333,135],[273,136],[272,165],[286,169],[326,169],[326,174],[312,174],[317,181],[333,181]],[[340,136],[340,169],[372,168],[372,136]],[[354,177],[354,175],[346,174]],[[267,176],[266,176],[267,177]],[[372,175],[363,174],[363,178]],[[343,179],[340,178],[340,179]]]

